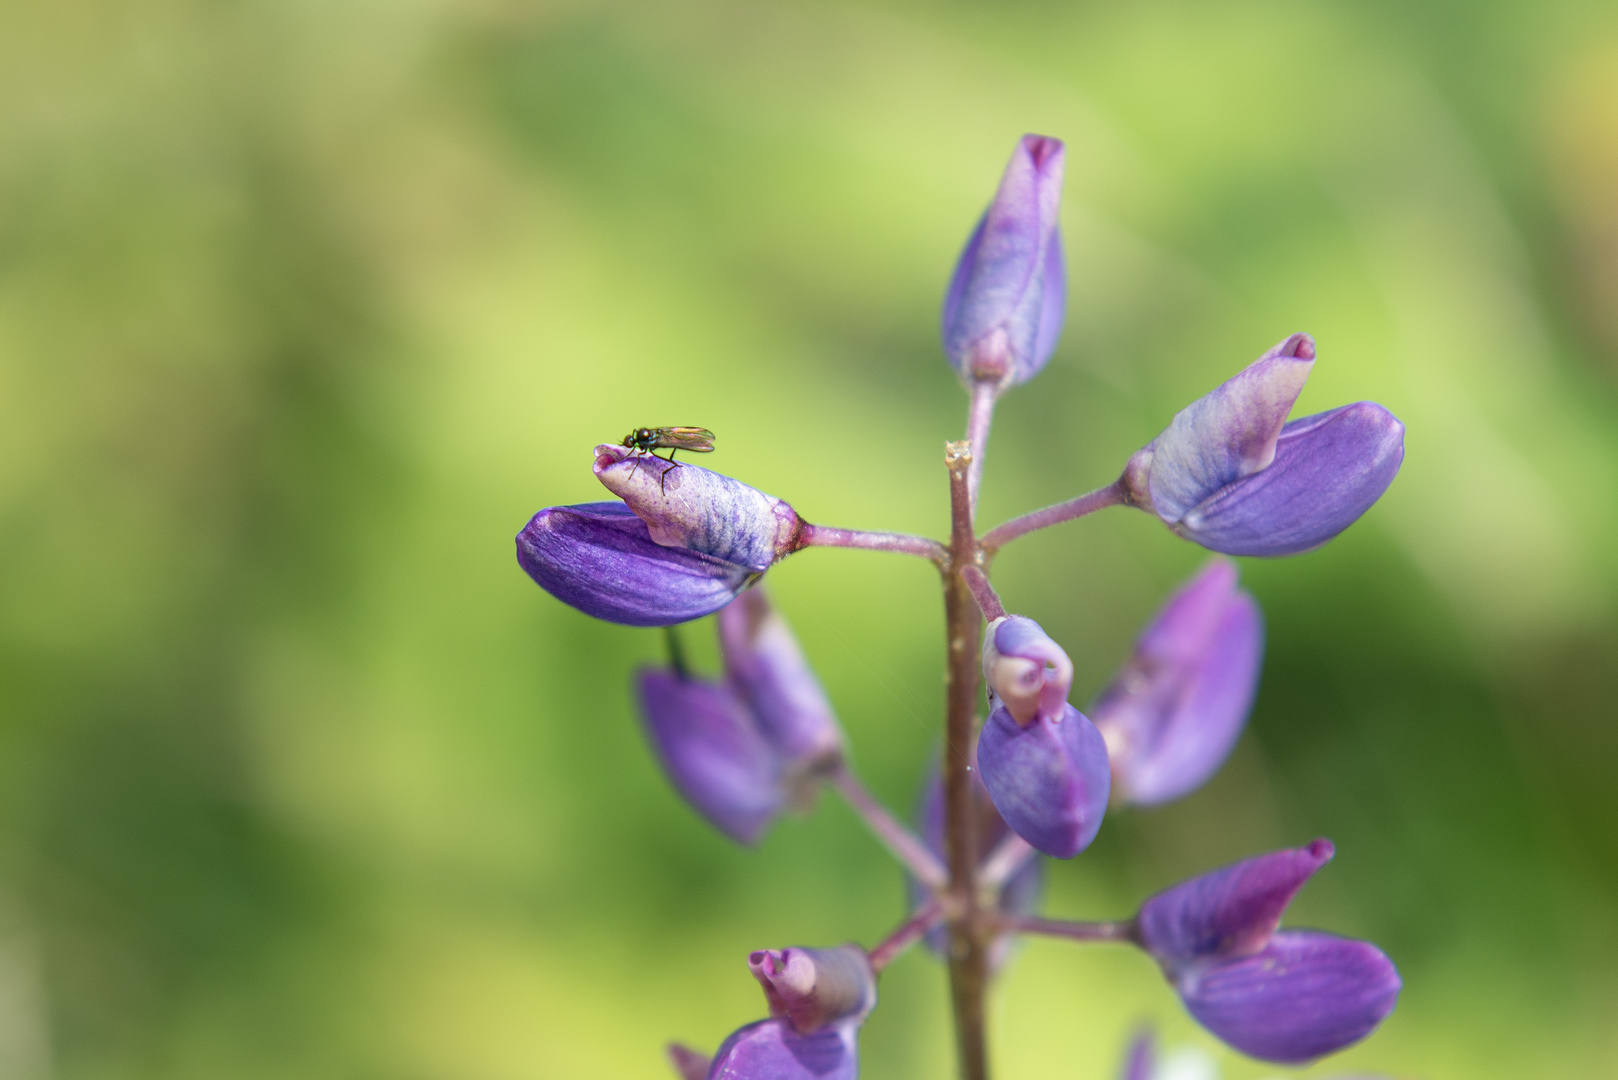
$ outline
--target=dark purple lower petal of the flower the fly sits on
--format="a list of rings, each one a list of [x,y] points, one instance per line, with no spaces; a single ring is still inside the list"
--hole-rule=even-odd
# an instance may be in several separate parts
[[[712,555],[654,544],[646,523],[621,502],[540,510],[516,534],[516,560],[563,604],[629,627],[712,615],[759,576]]]

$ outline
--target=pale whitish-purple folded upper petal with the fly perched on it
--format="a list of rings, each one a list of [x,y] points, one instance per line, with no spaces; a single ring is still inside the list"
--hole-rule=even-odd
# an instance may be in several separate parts
[[[602,444],[595,478],[667,547],[699,551],[762,573],[791,554],[801,523],[793,508],[701,465]]]

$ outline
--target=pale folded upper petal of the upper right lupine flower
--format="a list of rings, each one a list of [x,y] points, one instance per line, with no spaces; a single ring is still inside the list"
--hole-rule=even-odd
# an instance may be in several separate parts
[[[1175,525],[1209,494],[1270,465],[1314,356],[1314,340],[1293,334],[1175,416],[1152,442],[1152,507],[1163,521]]]

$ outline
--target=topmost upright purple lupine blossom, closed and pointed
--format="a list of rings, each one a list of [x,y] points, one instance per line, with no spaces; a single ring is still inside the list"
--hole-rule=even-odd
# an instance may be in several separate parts
[[[1061,257],[1063,146],[1026,134],[955,264],[943,351],[968,385],[1026,382],[1050,359],[1068,301]]]

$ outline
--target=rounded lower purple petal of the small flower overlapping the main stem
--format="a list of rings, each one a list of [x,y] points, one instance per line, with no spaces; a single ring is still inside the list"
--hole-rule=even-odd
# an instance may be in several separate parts
[[[995,709],[977,737],[977,764],[995,810],[1045,855],[1073,858],[1091,845],[1107,813],[1107,743],[1082,712],[1019,727]]]

